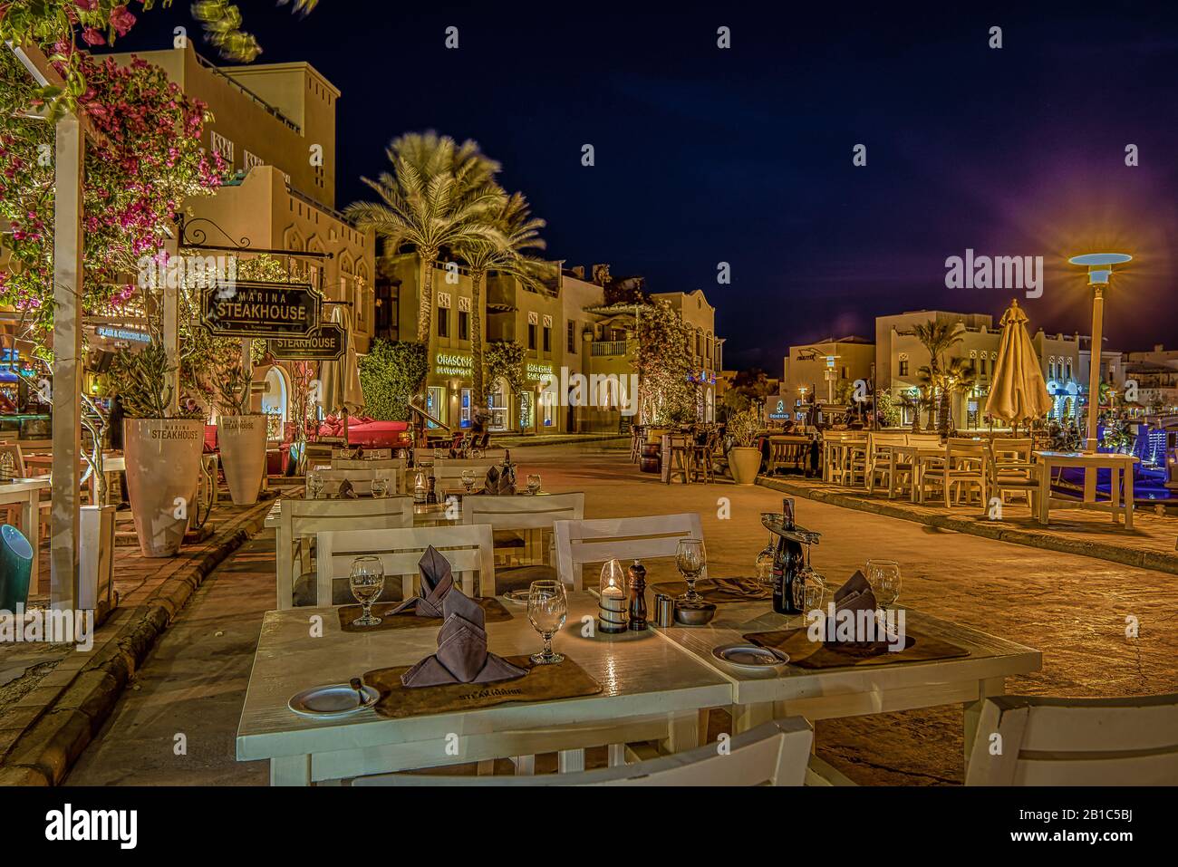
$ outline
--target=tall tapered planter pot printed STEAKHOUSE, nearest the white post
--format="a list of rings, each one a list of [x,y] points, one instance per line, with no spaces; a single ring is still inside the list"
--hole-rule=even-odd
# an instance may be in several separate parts
[[[139,550],[145,557],[176,556],[196,509],[204,419],[127,418],[123,431]]]

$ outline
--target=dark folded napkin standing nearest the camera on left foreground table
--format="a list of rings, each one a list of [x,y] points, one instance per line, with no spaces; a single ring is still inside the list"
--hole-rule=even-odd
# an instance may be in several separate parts
[[[523,677],[528,670],[487,650],[487,614],[458,588],[442,601],[445,622],[438,630],[437,653],[401,675],[406,687],[443,683],[492,683]]]

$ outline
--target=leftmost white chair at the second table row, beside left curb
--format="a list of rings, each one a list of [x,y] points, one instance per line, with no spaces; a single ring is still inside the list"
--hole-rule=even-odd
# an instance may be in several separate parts
[[[360,499],[279,501],[274,530],[278,573],[278,610],[294,607],[296,561],[298,574],[310,567],[310,536],[322,530],[380,530],[413,525],[412,497],[365,497]],[[322,598],[322,597],[318,597]]]

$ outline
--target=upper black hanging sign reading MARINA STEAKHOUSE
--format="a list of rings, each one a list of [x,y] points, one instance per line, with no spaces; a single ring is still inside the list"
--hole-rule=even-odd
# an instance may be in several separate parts
[[[306,337],[319,327],[322,304],[309,283],[237,280],[200,290],[205,327],[218,337]]]

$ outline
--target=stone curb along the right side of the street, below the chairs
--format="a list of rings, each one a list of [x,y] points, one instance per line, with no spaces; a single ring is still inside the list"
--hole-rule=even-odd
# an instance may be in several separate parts
[[[952,515],[920,515],[908,511],[901,505],[875,499],[862,499],[839,491],[818,490],[805,484],[789,482],[783,478],[767,478],[757,476],[756,483],[763,488],[806,497],[818,503],[838,505],[843,509],[866,511],[884,517],[900,518],[927,527],[937,527],[955,532],[967,532],[973,536],[992,538],[998,542],[1011,542],[1013,544],[1026,545],[1028,548],[1041,548],[1060,554],[1077,554],[1083,557],[1105,560],[1110,563],[1120,563],[1140,569],[1152,569],[1154,571],[1178,575],[1178,554],[1166,554],[1163,551],[1143,550],[1139,548],[1126,548],[1108,542],[1097,540],[1071,540],[1057,536],[1043,530],[1024,530],[1014,527],[1002,527],[997,522],[981,524],[977,521],[953,517]]]

